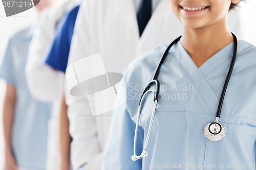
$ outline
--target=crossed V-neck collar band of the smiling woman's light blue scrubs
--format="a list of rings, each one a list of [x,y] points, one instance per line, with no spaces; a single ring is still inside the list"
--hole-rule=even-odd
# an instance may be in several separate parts
[[[193,82],[197,91],[201,95],[209,112],[212,114],[216,114],[217,112],[219,99],[204,76],[207,76],[209,72],[217,68],[225,60],[232,58],[232,48],[232,43],[228,44],[221,51],[212,56],[210,60],[207,60],[207,62],[205,62],[199,68],[188,55],[185,48],[180,42],[176,43],[172,48],[170,48],[170,53],[173,53],[178,62],[181,64],[187,76],[189,77],[191,82]],[[222,109],[221,114],[227,115],[225,109]]]

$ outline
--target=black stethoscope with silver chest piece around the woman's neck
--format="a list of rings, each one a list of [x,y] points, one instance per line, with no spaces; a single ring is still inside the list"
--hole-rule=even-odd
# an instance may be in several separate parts
[[[222,90],[222,93],[221,93],[221,98],[220,98],[220,102],[219,102],[219,106],[218,106],[218,110],[217,110],[217,114],[216,114],[216,120],[215,120],[215,122],[208,123],[204,127],[204,135],[210,141],[219,141],[225,136],[225,133],[226,133],[225,127],[221,123],[219,123],[218,121],[219,121],[219,118],[220,118],[220,115],[221,115],[221,108],[222,108],[222,104],[223,104],[223,101],[224,101],[227,85],[228,85],[229,79],[230,79],[231,74],[232,74],[234,63],[236,62],[236,58],[237,58],[238,38],[233,33],[232,33],[232,35],[233,35],[234,44],[235,44],[234,45],[234,53],[233,53],[231,65],[229,67],[229,71],[228,71],[228,74],[227,74],[227,78],[226,78],[226,81],[224,83],[224,87],[223,87],[223,90]],[[145,90],[142,93],[142,96],[141,96],[141,99],[140,99],[140,102],[139,102],[136,129],[135,129],[135,135],[134,135],[134,148],[133,148],[134,155],[132,156],[133,161],[136,161],[138,159],[141,159],[141,158],[147,156],[146,147],[147,147],[148,139],[150,138],[150,133],[151,133],[152,125],[153,125],[154,115],[155,115],[156,107],[157,107],[157,102],[159,100],[159,81],[157,80],[157,76],[159,74],[161,65],[163,64],[164,59],[166,58],[170,48],[174,44],[176,44],[180,40],[180,38],[181,38],[181,36],[179,38],[177,38],[176,40],[174,40],[172,43],[170,43],[170,45],[167,47],[166,51],[162,55],[162,58],[161,58],[161,60],[158,64],[158,67],[155,71],[155,75],[154,75],[152,81],[147,85],[147,87],[145,88]],[[153,90],[150,90],[150,87],[154,83],[156,84],[156,87],[157,87],[156,88],[156,94]],[[147,131],[146,141],[145,141],[142,153],[140,154],[140,156],[136,156],[136,143],[137,143],[138,125],[139,125],[139,118],[140,118],[140,113],[141,113],[141,108],[142,108],[142,102],[144,100],[145,95],[149,92],[152,92],[154,94],[154,107],[153,107],[151,120],[150,120],[150,128]]]

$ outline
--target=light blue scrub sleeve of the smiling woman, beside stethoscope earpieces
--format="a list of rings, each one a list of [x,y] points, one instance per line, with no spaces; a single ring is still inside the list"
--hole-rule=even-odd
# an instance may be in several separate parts
[[[142,160],[133,161],[133,144],[136,124],[123,104],[113,112],[111,126],[103,156],[102,170],[140,170]],[[144,130],[138,127],[137,155],[141,154]]]

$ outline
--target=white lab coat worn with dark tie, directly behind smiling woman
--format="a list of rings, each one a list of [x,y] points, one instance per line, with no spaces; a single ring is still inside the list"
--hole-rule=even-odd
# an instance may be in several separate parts
[[[230,15],[231,31],[243,39],[241,17],[238,17],[238,12]],[[127,64],[144,52],[172,42],[182,34],[183,27],[168,0],[162,0],[141,37],[138,30],[133,0],[84,1],[77,16],[68,65],[100,53],[106,72],[121,73]],[[100,169],[112,116],[92,116],[91,109],[97,108],[90,109],[86,97],[67,95],[66,102],[73,137],[71,160],[74,169],[84,164],[82,169]],[[106,114],[111,114],[111,111]]]

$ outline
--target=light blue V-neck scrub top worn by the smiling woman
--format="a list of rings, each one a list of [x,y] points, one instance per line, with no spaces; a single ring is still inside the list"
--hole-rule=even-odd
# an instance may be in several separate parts
[[[152,80],[166,48],[147,52],[125,69],[127,100],[113,112],[102,170],[255,169],[256,47],[241,40],[219,119],[226,129],[225,137],[210,141],[203,130],[215,121],[234,43],[198,68],[178,42],[158,75],[160,99],[146,148],[148,155],[132,161],[140,94]],[[151,89],[156,91],[155,85]],[[141,110],[137,155],[145,143],[153,105],[150,93]]]

